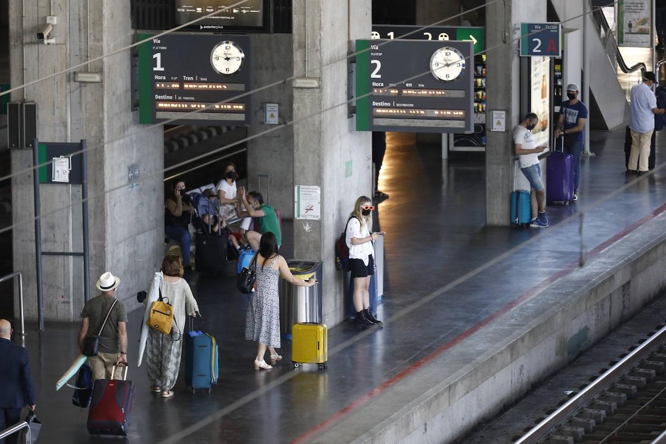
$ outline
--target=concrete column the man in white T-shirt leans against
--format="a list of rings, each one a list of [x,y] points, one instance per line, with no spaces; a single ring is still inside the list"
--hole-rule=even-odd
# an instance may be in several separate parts
[[[546,19],[546,0],[507,0],[488,5],[486,10],[486,41],[490,49],[486,59],[488,114],[492,110],[507,111],[506,132],[486,134],[486,224],[509,225],[509,194],[513,188],[513,127],[520,115],[520,63],[517,37],[521,22]],[[545,168],[542,170],[545,171]],[[519,173],[520,174],[520,173]],[[544,176],[545,177],[545,176]]]

